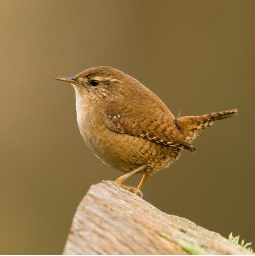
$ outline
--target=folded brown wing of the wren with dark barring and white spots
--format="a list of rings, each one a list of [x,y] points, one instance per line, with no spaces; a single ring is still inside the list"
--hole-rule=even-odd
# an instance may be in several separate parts
[[[195,152],[180,130],[163,112],[135,111],[132,115],[123,112],[108,112],[108,127],[112,131],[126,133],[155,143]]]

